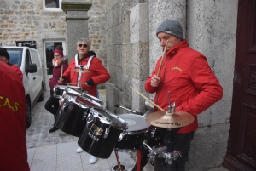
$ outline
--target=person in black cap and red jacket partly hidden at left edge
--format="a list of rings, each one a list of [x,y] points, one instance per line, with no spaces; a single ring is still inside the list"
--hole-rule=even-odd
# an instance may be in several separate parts
[[[18,66],[11,64],[9,62],[9,58],[10,57],[9,57],[9,54],[8,54],[6,48],[0,48],[0,60],[3,63],[7,64],[8,66],[12,67],[16,71],[16,73],[18,74],[18,76],[20,77],[21,82],[22,82],[23,81],[22,71],[20,70],[20,68]]]

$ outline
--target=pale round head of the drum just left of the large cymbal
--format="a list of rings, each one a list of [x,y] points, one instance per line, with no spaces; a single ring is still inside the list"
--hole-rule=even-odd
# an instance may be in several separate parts
[[[128,129],[126,129],[127,132],[143,130],[150,127],[150,124],[146,121],[146,117],[143,117],[141,115],[119,114],[117,116],[125,120],[126,123],[128,123]]]

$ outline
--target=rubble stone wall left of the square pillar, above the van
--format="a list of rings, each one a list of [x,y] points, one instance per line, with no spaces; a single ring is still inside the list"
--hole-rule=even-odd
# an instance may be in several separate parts
[[[43,60],[44,39],[66,39],[63,11],[44,11],[42,0],[2,0],[0,2],[0,46],[15,46],[15,41],[37,43]],[[51,29],[55,26],[55,31]]]

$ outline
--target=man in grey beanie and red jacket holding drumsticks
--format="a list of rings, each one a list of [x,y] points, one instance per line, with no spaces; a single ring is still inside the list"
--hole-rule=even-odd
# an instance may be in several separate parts
[[[176,111],[186,111],[195,117],[195,121],[178,129],[174,137],[174,148],[182,152],[167,170],[185,170],[188,161],[190,142],[194,131],[198,128],[197,115],[220,100],[223,89],[217,77],[207,63],[207,58],[189,48],[183,39],[183,29],[177,20],[165,20],[156,30],[160,46],[166,47],[166,55],[162,62],[160,75],[157,73],[162,58],[157,61],[154,71],[145,83],[145,90],[154,94],[154,103],[167,111],[169,105],[168,92],[171,93],[171,105],[175,102]],[[159,109],[154,107],[154,111]]]

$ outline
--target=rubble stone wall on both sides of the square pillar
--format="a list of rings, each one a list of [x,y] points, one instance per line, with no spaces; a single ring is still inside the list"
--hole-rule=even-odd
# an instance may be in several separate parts
[[[65,0],[63,0],[65,1]],[[79,2],[79,0],[69,0]],[[81,1],[81,0],[80,0]],[[105,13],[104,0],[82,0],[81,2],[92,3],[88,11],[89,38],[91,49],[94,50],[102,60],[103,65],[107,64],[105,50]],[[52,39],[67,40],[67,14],[63,11],[46,11],[43,9],[43,0],[1,0],[0,1],[0,46],[15,46],[15,41],[31,41],[37,43],[37,49],[41,55],[44,66],[43,41]],[[55,31],[51,29],[55,26]],[[74,37],[77,40],[79,37]],[[76,43],[76,41],[75,41]],[[73,58],[73,53],[66,54]],[[76,49],[76,48],[74,48]]]

